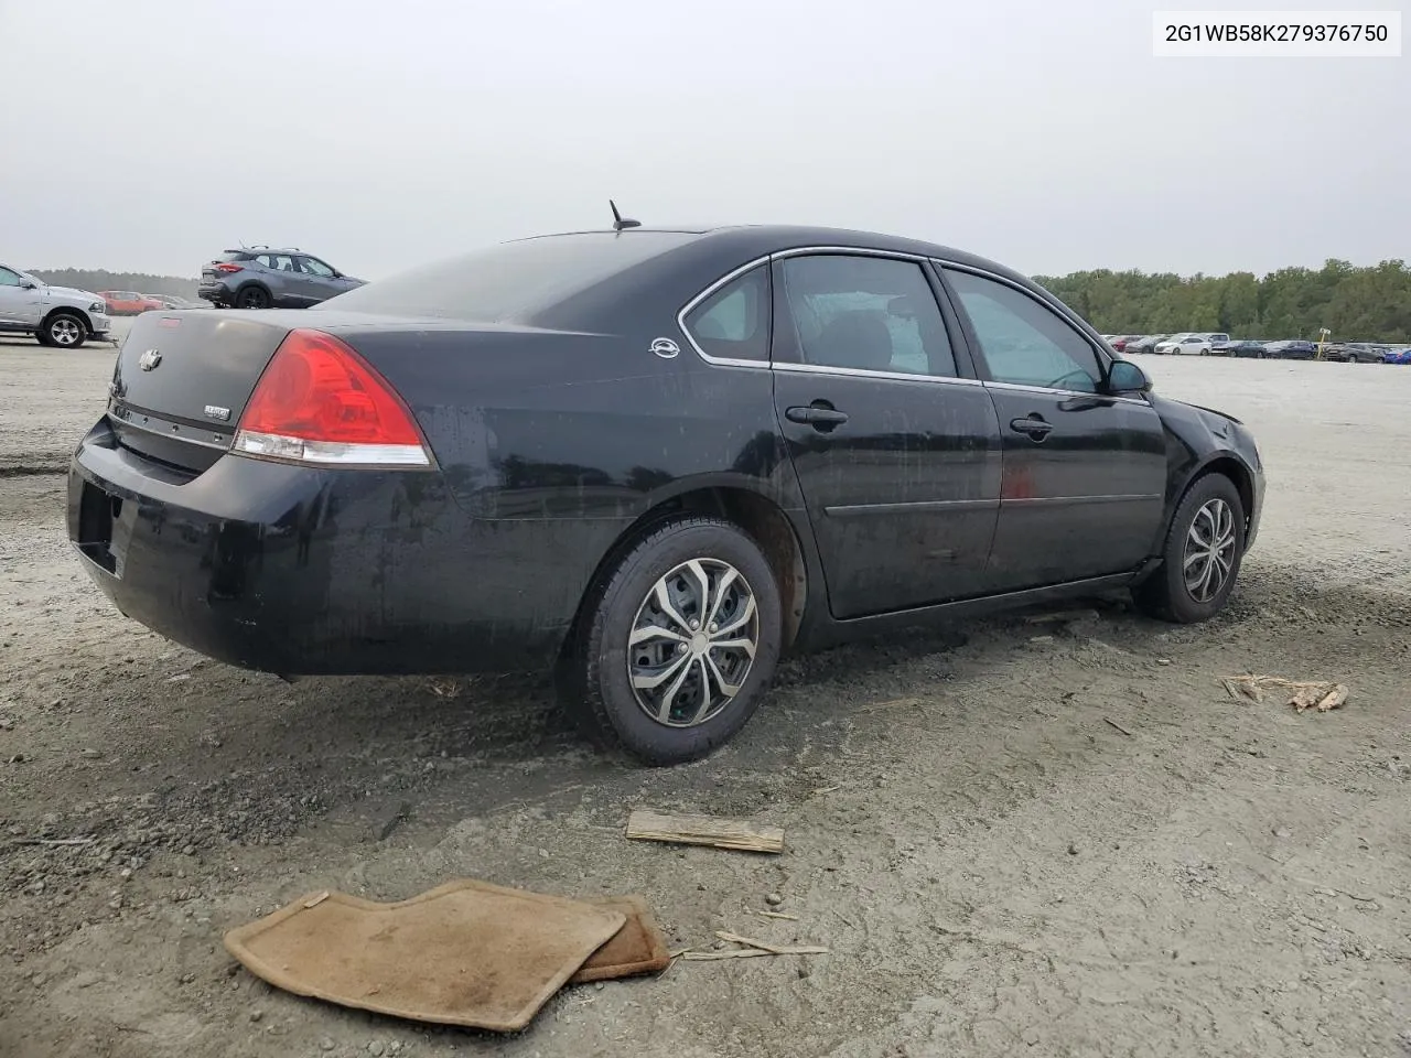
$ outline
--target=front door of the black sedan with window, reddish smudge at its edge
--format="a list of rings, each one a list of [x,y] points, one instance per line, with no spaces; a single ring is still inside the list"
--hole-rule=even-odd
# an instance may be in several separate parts
[[[943,275],[1005,437],[992,590],[1136,568],[1164,508],[1167,443],[1156,409],[1106,395],[1094,343],[1029,292],[968,269]]]

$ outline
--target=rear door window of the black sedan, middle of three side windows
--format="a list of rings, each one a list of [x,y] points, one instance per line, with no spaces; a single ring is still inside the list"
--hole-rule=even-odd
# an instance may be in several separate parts
[[[817,254],[783,262],[804,364],[955,377],[945,322],[921,267]]]

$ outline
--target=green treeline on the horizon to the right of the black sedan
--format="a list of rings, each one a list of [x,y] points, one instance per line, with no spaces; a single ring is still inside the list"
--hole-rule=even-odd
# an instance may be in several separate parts
[[[1103,334],[1223,332],[1242,339],[1405,341],[1411,339],[1411,269],[1404,261],[1353,268],[1281,268],[1195,275],[1074,272],[1034,281],[1082,313]]]

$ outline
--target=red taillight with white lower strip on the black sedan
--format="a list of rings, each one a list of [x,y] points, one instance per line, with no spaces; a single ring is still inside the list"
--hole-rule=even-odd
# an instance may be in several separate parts
[[[429,467],[412,413],[349,346],[289,332],[236,427],[234,451],[295,463]]]

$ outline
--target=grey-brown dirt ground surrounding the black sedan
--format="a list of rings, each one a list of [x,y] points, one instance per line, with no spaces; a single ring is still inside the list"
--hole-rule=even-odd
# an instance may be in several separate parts
[[[1411,1052],[1411,370],[1144,358],[1268,464],[1213,624],[1099,600],[794,660],[720,755],[638,770],[540,679],[291,687],[117,616],[55,473],[111,363],[0,343],[0,1055]],[[1229,698],[1247,671],[1352,697]],[[629,842],[632,807],[789,848]],[[220,944],[461,876],[830,952],[570,989],[505,1040],[272,992]]]

